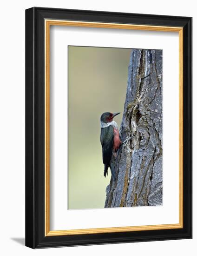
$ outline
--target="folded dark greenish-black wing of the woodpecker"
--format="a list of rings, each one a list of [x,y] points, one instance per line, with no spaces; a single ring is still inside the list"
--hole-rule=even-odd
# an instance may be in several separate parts
[[[113,127],[112,125],[101,128],[100,142],[103,149],[103,163],[110,163],[113,151]]]

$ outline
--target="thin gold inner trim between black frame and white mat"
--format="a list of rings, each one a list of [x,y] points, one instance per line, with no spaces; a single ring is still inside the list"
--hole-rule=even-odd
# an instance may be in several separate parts
[[[95,229],[50,230],[50,26],[102,27],[179,33],[179,223]],[[183,228],[183,27],[45,20],[45,236],[66,236]]]

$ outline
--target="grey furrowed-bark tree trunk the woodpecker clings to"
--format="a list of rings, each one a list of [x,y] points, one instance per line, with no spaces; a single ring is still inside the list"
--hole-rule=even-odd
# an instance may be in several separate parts
[[[162,205],[162,50],[131,50],[120,138],[105,207]]]

